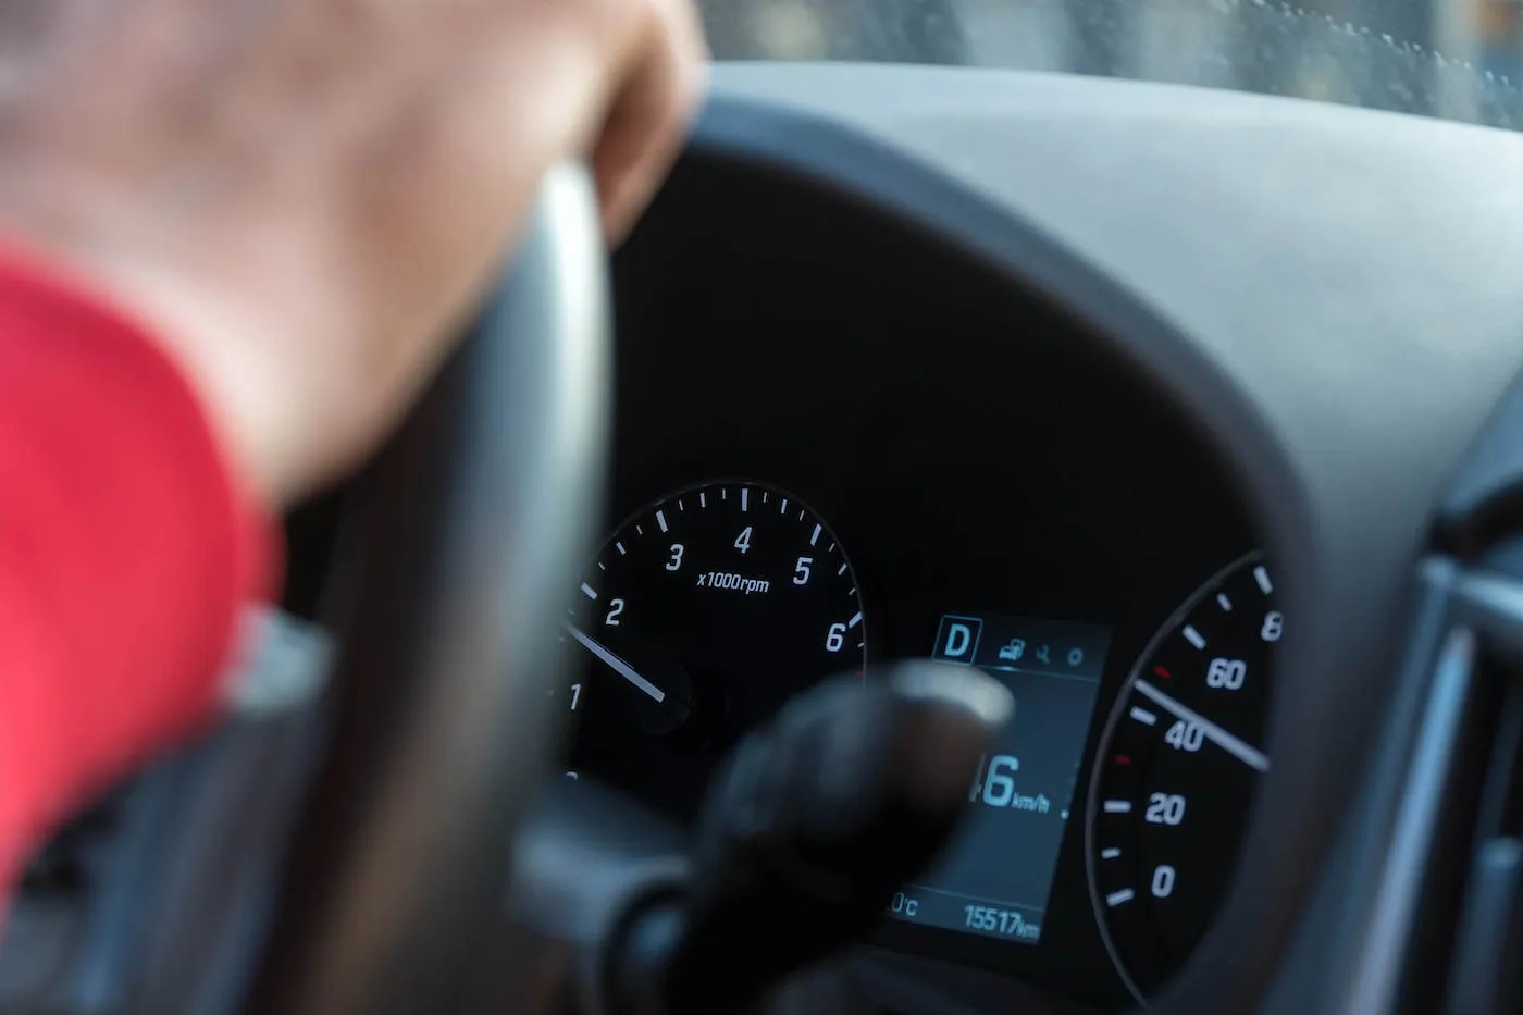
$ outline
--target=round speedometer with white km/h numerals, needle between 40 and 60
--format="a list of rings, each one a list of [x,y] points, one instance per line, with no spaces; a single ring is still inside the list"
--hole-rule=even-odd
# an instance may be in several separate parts
[[[1089,792],[1089,884],[1138,1000],[1189,956],[1231,881],[1284,632],[1258,555],[1208,581],[1153,639],[1106,725]]]

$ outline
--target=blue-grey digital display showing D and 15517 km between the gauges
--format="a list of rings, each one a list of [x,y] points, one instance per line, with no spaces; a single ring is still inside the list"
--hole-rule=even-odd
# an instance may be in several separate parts
[[[937,866],[889,914],[911,924],[1037,943],[1071,818],[1110,628],[946,614],[932,658],[978,666],[1016,710],[969,786],[969,814]]]

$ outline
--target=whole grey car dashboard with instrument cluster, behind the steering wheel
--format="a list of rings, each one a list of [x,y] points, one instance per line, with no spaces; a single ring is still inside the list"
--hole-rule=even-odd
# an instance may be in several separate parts
[[[614,265],[608,526],[509,604],[565,605],[551,776],[685,828],[801,690],[976,666],[1016,712],[959,838],[797,1010],[1493,1010],[1451,1001],[1523,969],[1518,180],[1517,134],[1369,110],[716,67]],[[480,474],[419,447],[388,509],[291,524],[288,611],[369,651],[70,829],[0,1007],[288,1010],[323,965],[369,791],[423,757],[408,652],[501,636],[495,585],[428,594],[419,561],[516,550],[463,512],[486,536],[437,552]]]

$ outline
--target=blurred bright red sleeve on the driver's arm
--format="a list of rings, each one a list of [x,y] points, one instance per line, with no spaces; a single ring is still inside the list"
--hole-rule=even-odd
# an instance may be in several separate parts
[[[215,713],[270,533],[145,329],[0,258],[0,899],[72,808]]]

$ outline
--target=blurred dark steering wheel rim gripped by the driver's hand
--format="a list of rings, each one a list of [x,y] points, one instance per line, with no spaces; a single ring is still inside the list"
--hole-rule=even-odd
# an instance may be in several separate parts
[[[469,1007],[554,744],[560,585],[602,506],[611,392],[594,187],[551,169],[512,271],[355,488],[340,703],[254,1010]]]

